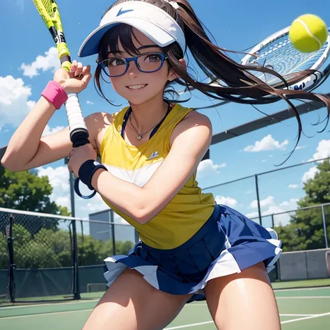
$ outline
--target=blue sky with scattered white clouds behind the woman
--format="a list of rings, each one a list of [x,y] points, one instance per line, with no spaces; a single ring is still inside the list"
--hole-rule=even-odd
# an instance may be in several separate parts
[[[81,42],[97,27],[102,13],[113,1],[57,2],[72,58],[77,58]],[[272,33],[289,26],[296,17],[305,13],[320,15],[330,26],[330,11],[326,10],[329,8],[329,0],[302,0],[299,3],[285,0],[255,0],[253,3],[242,0],[191,0],[190,3],[201,21],[210,29],[217,43],[221,47],[237,51],[251,47]],[[54,69],[58,67],[58,60],[52,47],[52,38],[38,16],[33,1],[1,1],[0,22],[2,31],[6,31],[2,37],[3,51],[0,61],[0,146],[6,146],[17,125],[38,100],[47,81],[52,79]],[[94,69],[95,59],[95,56],[85,58],[84,64],[91,64]],[[329,92],[329,81],[318,91]],[[125,102],[111,89],[108,95],[117,103]],[[97,95],[93,84],[81,93],[80,100],[84,116],[95,111],[118,111],[118,108],[109,106]],[[187,105],[193,107],[210,104],[212,102],[207,97],[198,94],[187,102]],[[260,107],[260,110],[267,113],[283,109],[283,102]],[[241,104],[228,104],[202,112],[212,120],[214,133],[223,132],[262,116],[256,109]],[[330,156],[329,133],[317,134],[317,129],[311,125],[317,122],[319,116],[324,118],[325,114],[326,109],[323,108],[302,117],[306,134],[313,137],[302,136],[299,149],[283,166]],[[65,125],[66,115],[64,109],[61,109],[56,111],[49,121],[45,134]],[[211,160],[202,163],[198,170],[198,182],[201,187],[208,187],[246,175],[272,171],[276,168],[275,164],[283,162],[292,150],[296,135],[297,124],[292,119],[212,146]],[[63,161],[38,168],[38,173],[49,175],[54,187],[54,201],[70,208],[68,171]],[[304,180],[313,178],[313,174],[315,164],[309,164],[260,177],[262,212],[294,209],[297,199],[304,196]],[[253,178],[221,186],[212,191],[217,201],[227,203],[250,217],[256,216]],[[84,201],[76,196],[75,200],[77,217],[88,217],[89,213],[106,208],[98,197]]]

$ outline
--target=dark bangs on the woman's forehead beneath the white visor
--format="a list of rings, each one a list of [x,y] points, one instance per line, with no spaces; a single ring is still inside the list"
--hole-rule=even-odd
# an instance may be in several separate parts
[[[120,55],[119,45],[123,47],[123,50],[131,55],[139,55],[139,50],[135,47],[134,41],[141,43],[134,35],[133,27],[128,24],[118,24],[104,34],[99,45],[99,61],[103,61],[108,58],[108,53]],[[142,45],[141,45],[142,46]]]

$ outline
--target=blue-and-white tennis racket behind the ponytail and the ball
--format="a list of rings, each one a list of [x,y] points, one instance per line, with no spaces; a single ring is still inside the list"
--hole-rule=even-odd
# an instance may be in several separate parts
[[[262,65],[275,70],[281,76],[290,77],[290,74],[302,70],[316,70],[301,81],[289,84],[294,91],[312,91],[324,82],[330,73],[330,64],[324,66],[330,55],[330,35],[321,49],[313,53],[302,53],[295,49],[289,38],[290,26],[274,33],[258,45],[254,46],[249,54],[242,59],[243,65]],[[281,83],[281,80],[272,74],[263,72],[252,73],[270,86]]]

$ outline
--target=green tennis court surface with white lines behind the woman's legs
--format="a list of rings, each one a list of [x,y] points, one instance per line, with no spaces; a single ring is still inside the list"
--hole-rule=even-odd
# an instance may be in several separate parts
[[[330,287],[275,290],[283,330],[330,329]],[[94,300],[6,306],[0,308],[0,328],[10,330],[79,330]],[[111,324],[109,324],[111,329]],[[166,330],[216,330],[204,301],[187,304]],[[267,329],[267,328],[265,328]]]

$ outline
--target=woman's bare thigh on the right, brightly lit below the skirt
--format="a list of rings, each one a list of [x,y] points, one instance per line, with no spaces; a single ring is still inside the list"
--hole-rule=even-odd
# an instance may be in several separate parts
[[[219,330],[280,330],[272,285],[262,263],[241,273],[212,279],[207,306]]]

